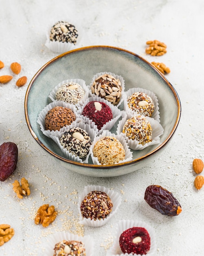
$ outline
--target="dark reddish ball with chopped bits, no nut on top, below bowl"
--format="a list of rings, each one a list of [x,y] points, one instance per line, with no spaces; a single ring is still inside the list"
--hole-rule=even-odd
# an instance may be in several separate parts
[[[101,191],[91,191],[81,202],[81,214],[83,218],[91,220],[105,219],[112,211],[113,203],[110,197]]]

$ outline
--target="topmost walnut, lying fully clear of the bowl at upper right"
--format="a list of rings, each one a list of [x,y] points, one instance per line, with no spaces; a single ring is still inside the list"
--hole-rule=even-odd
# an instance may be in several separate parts
[[[151,54],[151,56],[162,56],[167,52],[167,45],[158,40],[147,41],[146,44],[149,45],[149,47],[146,48],[145,52]]]

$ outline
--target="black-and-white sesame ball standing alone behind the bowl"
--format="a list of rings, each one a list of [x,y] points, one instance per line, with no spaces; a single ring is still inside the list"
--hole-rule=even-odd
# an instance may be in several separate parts
[[[78,31],[74,25],[66,21],[58,21],[50,30],[50,41],[77,43]]]

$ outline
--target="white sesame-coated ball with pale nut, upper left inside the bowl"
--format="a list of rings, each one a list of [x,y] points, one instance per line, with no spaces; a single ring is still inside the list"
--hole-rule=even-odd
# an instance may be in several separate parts
[[[81,99],[83,99],[85,92],[81,85],[78,83],[64,83],[62,84],[57,92],[56,99],[58,101],[65,101],[70,104],[77,104]]]

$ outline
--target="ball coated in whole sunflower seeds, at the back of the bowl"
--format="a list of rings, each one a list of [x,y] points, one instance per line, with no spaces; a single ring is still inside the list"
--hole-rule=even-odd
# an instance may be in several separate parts
[[[91,92],[117,105],[121,100],[121,81],[112,75],[103,74],[91,85]]]

